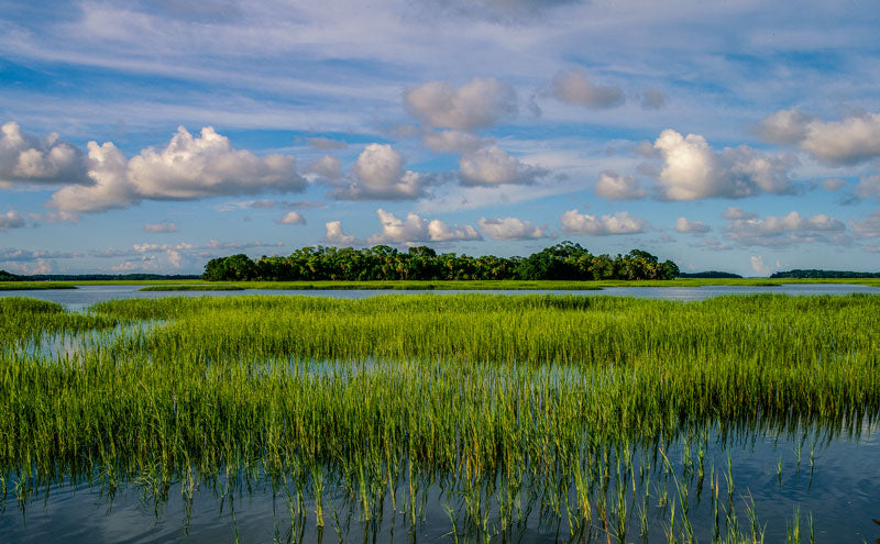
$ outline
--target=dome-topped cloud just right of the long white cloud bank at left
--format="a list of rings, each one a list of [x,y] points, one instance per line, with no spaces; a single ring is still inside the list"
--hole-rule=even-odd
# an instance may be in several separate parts
[[[332,192],[343,200],[408,200],[425,196],[429,177],[404,171],[400,154],[388,144],[370,144],[352,168],[354,181]]]

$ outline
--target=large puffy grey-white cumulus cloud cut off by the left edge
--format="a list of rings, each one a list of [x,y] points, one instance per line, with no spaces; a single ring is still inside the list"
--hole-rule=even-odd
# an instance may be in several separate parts
[[[87,170],[82,152],[56,133],[32,136],[14,121],[0,126],[0,186],[89,184]]]

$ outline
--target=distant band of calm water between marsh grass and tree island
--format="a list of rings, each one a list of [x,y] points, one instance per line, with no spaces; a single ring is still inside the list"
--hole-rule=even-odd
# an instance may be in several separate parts
[[[328,290],[273,290],[245,289],[243,291],[139,291],[142,286],[81,286],[77,289],[48,289],[33,291],[0,291],[0,297],[32,297],[66,306],[72,310],[82,310],[96,302],[111,299],[156,299],[164,297],[237,297],[242,295],[289,295],[309,297],[333,297],[360,299],[381,295],[424,295],[487,292],[495,295],[583,295],[585,297],[639,297],[662,300],[702,300],[722,295],[780,293],[793,296],[810,295],[880,295],[880,287],[850,284],[783,284],[777,287],[750,286],[704,286],[704,287],[607,287],[602,290],[389,290],[389,289],[328,289]]]

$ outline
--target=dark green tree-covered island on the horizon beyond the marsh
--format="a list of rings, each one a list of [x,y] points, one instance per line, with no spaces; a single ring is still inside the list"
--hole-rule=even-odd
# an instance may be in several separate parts
[[[528,257],[438,254],[427,246],[400,252],[387,245],[363,249],[306,246],[287,257],[252,260],[243,254],[211,259],[204,279],[220,280],[487,280],[672,279],[679,267],[642,249],[612,257],[562,242]]]

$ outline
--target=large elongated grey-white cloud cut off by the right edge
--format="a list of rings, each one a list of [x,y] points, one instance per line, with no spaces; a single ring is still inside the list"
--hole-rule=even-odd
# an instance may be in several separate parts
[[[792,110],[765,119],[759,130],[770,143],[798,144],[821,163],[855,165],[880,156],[880,114],[850,115],[822,121]]]

